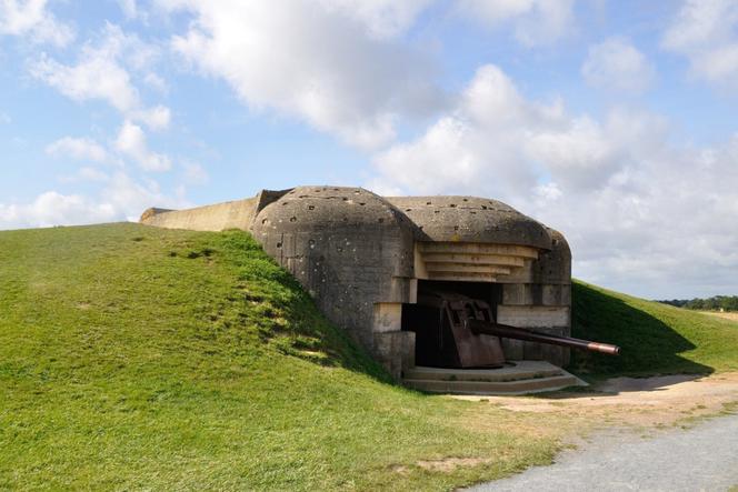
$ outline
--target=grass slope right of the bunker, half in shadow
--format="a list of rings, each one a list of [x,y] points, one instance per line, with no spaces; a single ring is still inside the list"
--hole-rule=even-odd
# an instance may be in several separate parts
[[[584,282],[572,289],[572,335],[618,344],[619,357],[572,352],[595,378],[738,371],[738,323]]]

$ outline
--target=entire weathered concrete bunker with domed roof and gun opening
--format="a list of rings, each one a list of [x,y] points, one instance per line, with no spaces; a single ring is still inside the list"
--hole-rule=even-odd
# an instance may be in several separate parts
[[[397,379],[407,380],[416,364],[560,368],[574,347],[485,331],[485,323],[499,323],[556,339],[571,328],[566,239],[496,200],[298,187],[190,210],[149,209],[141,222],[251,232]]]

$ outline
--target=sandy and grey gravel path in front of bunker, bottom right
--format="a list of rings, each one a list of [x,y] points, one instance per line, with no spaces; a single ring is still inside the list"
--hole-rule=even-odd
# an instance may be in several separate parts
[[[550,414],[551,423],[570,429],[576,448],[550,466],[472,491],[712,491],[738,484],[738,414],[701,419],[738,411],[738,373],[617,378],[591,392],[486,400]]]

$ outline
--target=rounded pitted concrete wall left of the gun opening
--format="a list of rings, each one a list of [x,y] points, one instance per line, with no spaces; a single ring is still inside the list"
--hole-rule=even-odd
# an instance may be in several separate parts
[[[416,301],[412,228],[367,190],[300,187],[266,207],[252,231],[331,321],[399,371],[392,361],[411,334],[399,323],[388,329],[387,310],[377,305]]]

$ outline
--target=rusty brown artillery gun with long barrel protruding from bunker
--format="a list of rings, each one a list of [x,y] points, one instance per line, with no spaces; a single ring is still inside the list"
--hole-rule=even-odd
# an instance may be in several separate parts
[[[499,368],[506,362],[500,338],[549,343],[610,355],[620,348],[540,333],[495,321],[489,303],[460,293],[430,291],[411,305],[416,362],[437,368]]]

